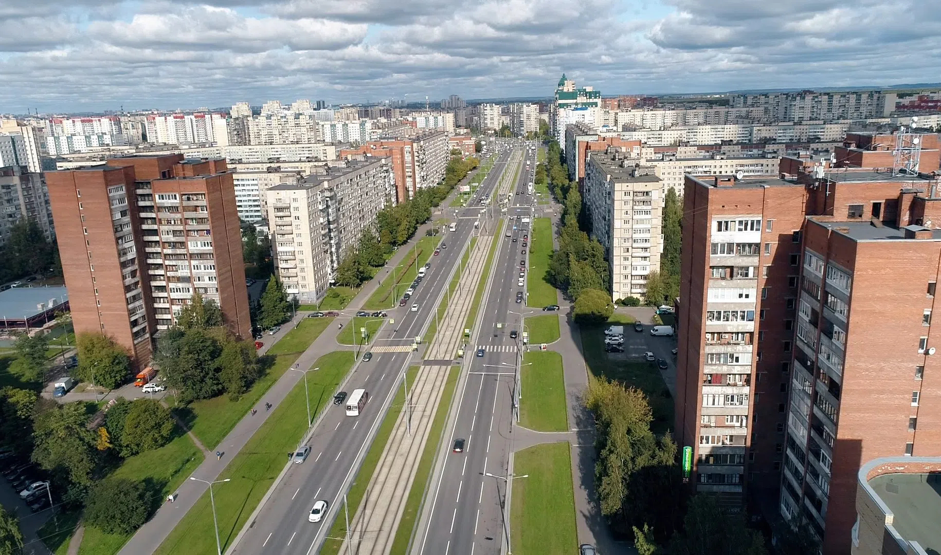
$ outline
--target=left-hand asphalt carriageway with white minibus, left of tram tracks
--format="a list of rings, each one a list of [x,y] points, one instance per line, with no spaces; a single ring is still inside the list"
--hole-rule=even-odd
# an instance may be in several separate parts
[[[481,183],[480,192],[488,194],[507,166],[509,154],[504,153]],[[385,324],[377,332],[374,347],[379,345],[410,345],[415,336],[422,335],[439,294],[444,291],[452,268],[467,244],[473,229],[472,217],[481,214],[481,208],[461,209],[455,232],[445,233],[443,241],[448,248],[439,256],[429,259],[431,268],[406,307],[389,310],[393,325]],[[447,214],[453,214],[447,210]],[[411,306],[418,304],[417,311]],[[330,405],[327,415],[320,421],[307,445],[311,455],[303,464],[293,465],[277,485],[273,495],[251,523],[232,553],[298,553],[319,551],[324,536],[337,517],[343,518],[343,493],[355,478],[359,463],[375,437],[375,432],[391,404],[395,389],[401,388],[401,376],[411,360],[410,352],[374,351],[369,362],[358,363],[344,389],[363,388],[370,400],[359,417],[345,416],[344,405]],[[285,453],[285,457],[287,453]],[[327,515],[319,523],[308,522],[308,515],[316,500],[327,500]],[[355,508],[350,509],[350,516]]]

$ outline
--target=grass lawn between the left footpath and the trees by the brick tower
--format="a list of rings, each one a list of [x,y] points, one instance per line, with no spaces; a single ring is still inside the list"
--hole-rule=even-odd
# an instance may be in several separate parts
[[[275,357],[275,362],[245,395],[238,401],[231,401],[228,395],[219,395],[212,399],[203,399],[173,411],[186,422],[206,449],[213,450],[235,424],[258,403],[265,392],[287,372],[311,343],[332,324],[332,318],[305,318],[277,343],[271,346],[268,354]]]

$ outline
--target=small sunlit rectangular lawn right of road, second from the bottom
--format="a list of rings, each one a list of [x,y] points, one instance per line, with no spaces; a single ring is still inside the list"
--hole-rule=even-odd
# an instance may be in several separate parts
[[[526,364],[532,362],[530,366]],[[536,432],[566,432],[566,379],[562,355],[529,351],[519,370],[519,424]]]

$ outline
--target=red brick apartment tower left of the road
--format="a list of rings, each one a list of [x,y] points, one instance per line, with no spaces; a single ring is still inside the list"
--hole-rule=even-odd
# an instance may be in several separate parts
[[[103,332],[146,364],[154,335],[201,293],[232,332],[250,337],[225,160],[131,156],[50,171],[46,182],[76,332]]]

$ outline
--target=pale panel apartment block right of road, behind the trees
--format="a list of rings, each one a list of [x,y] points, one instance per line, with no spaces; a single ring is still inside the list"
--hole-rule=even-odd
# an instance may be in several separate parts
[[[650,271],[660,270],[663,186],[653,168],[617,158],[614,150],[589,157],[582,198],[607,255],[612,298],[643,298]]]

